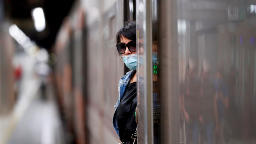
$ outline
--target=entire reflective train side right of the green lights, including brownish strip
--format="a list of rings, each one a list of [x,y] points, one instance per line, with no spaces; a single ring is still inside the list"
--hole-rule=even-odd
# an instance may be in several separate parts
[[[159,2],[161,143],[255,143],[254,26],[252,1]]]

